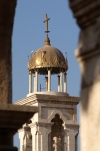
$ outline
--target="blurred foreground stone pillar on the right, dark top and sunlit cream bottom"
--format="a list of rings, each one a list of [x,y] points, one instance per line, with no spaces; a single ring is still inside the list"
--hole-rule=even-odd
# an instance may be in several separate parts
[[[81,151],[100,150],[100,0],[69,0],[81,28]]]

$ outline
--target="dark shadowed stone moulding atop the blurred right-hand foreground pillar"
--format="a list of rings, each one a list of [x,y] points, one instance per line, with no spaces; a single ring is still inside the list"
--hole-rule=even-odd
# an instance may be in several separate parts
[[[69,5],[81,29],[95,24],[100,16],[100,1],[98,0],[69,0]]]

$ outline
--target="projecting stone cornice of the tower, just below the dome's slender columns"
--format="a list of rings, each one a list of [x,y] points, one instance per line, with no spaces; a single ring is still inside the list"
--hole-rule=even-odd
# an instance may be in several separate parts
[[[52,104],[77,105],[79,102],[80,102],[79,97],[33,94],[29,97],[26,97],[22,100],[15,102],[15,104],[33,105],[34,103],[52,103]]]

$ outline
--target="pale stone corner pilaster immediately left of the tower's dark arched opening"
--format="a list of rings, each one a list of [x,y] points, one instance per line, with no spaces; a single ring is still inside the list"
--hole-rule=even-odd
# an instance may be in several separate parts
[[[32,151],[48,151],[48,135],[51,131],[52,124],[32,123]]]

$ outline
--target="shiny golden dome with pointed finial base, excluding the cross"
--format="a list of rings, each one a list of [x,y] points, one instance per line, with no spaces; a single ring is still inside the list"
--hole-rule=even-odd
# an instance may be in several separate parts
[[[35,73],[47,74],[51,68],[51,74],[58,74],[60,71],[65,72],[68,69],[67,60],[62,52],[50,45],[48,35],[45,39],[45,45],[35,51],[28,62],[28,69]]]

